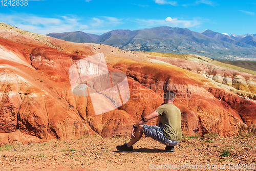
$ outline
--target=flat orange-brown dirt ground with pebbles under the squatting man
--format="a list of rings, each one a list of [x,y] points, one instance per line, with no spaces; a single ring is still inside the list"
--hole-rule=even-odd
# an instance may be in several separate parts
[[[0,147],[0,170],[256,170],[255,137],[187,137],[165,145],[142,137],[133,153],[116,145],[130,138],[83,137]]]

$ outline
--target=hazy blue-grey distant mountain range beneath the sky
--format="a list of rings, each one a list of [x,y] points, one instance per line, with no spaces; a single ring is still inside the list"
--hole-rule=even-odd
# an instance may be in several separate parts
[[[226,35],[211,30],[198,33],[183,28],[156,27],[134,31],[113,30],[102,35],[76,31],[50,33],[48,36],[131,51],[198,54],[222,60],[256,60],[256,34]]]

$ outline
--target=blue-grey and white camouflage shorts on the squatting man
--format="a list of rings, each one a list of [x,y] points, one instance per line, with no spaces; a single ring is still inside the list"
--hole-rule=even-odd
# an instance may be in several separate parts
[[[154,140],[163,143],[164,145],[174,146],[179,143],[178,141],[173,141],[173,140],[166,138],[163,135],[162,126],[161,125],[159,125],[159,126],[156,126],[156,125],[150,126],[150,125],[145,124],[145,125],[143,125],[142,130],[146,136],[151,137]]]

